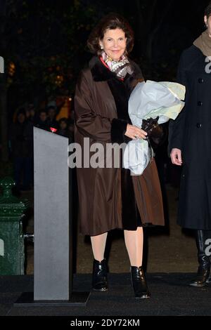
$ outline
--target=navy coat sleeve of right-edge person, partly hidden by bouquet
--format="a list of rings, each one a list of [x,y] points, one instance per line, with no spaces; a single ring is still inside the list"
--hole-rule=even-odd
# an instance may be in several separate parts
[[[179,67],[177,71],[177,82],[186,86],[186,74],[184,65],[184,53],[182,53],[179,60]],[[186,105],[179,113],[175,120],[170,120],[169,124],[169,146],[168,152],[170,154],[173,148],[182,150],[184,129],[185,129],[185,119],[186,119]]]

